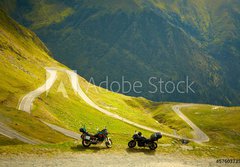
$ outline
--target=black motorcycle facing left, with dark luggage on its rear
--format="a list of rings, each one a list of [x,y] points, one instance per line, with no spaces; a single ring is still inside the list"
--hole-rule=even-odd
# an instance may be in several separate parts
[[[162,134],[160,132],[156,132],[152,134],[149,139],[146,139],[142,136],[141,132],[136,132],[132,138],[133,140],[128,142],[129,148],[134,148],[138,144],[139,147],[149,147],[151,150],[155,150],[157,148],[157,143],[155,141],[162,138]]]

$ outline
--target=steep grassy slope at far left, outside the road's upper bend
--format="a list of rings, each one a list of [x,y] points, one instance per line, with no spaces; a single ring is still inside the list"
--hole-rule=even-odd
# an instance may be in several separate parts
[[[0,11],[0,120],[30,137],[54,143],[69,138],[17,111],[19,99],[45,80],[45,66],[60,66],[36,35]]]

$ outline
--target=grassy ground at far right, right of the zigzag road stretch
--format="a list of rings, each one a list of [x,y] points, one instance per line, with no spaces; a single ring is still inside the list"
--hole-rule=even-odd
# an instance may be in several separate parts
[[[208,145],[217,147],[218,154],[239,156],[240,107],[197,105],[182,111],[209,136]]]

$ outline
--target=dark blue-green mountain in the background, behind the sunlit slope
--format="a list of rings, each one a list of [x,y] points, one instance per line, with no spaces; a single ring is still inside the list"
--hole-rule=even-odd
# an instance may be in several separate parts
[[[154,101],[237,105],[240,100],[237,0],[2,1],[35,31],[54,58],[100,85],[141,81]],[[194,82],[188,93],[150,93],[149,78]],[[151,82],[157,85],[158,80]],[[107,87],[106,85],[102,85]],[[111,89],[108,87],[108,89]],[[124,93],[113,86],[112,90]],[[171,90],[171,85],[170,88]],[[181,87],[183,90],[184,87]]]

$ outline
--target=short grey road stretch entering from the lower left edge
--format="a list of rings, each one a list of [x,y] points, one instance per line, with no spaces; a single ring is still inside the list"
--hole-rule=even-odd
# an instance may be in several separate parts
[[[18,139],[18,140],[20,140],[24,143],[28,143],[28,144],[40,144],[41,143],[38,140],[32,140],[32,139],[29,139],[29,138],[19,134],[18,132],[16,132],[12,128],[8,127],[7,125],[5,125],[1,122],[0,122],[0,134],[4,135],[10,139]]]

